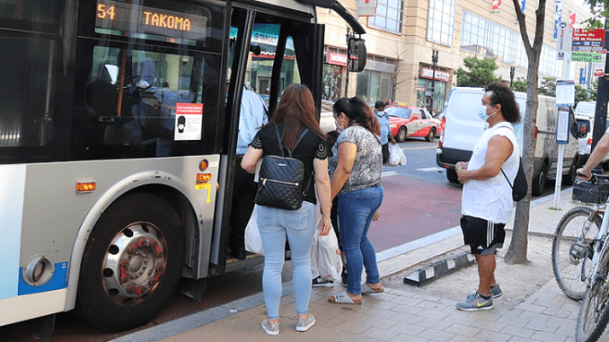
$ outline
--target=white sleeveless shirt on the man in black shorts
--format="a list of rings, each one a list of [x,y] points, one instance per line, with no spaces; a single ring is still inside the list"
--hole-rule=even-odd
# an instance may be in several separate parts
[[[510,183],[514,184],[520,162],[520,148],[516,142],[514,128],[508,122],[501,122],[482,133],[473,146],[472,158],[467,170],[478,170],[484,165],[489,141],[493,136],[506,136],[514,146],[512,154],[501,166]],[[488,180],[468,180],[463,184],[461,198],[463,215],[479,217],[494,224],[506,224],[513,207],[512,188],[501,171]]]

